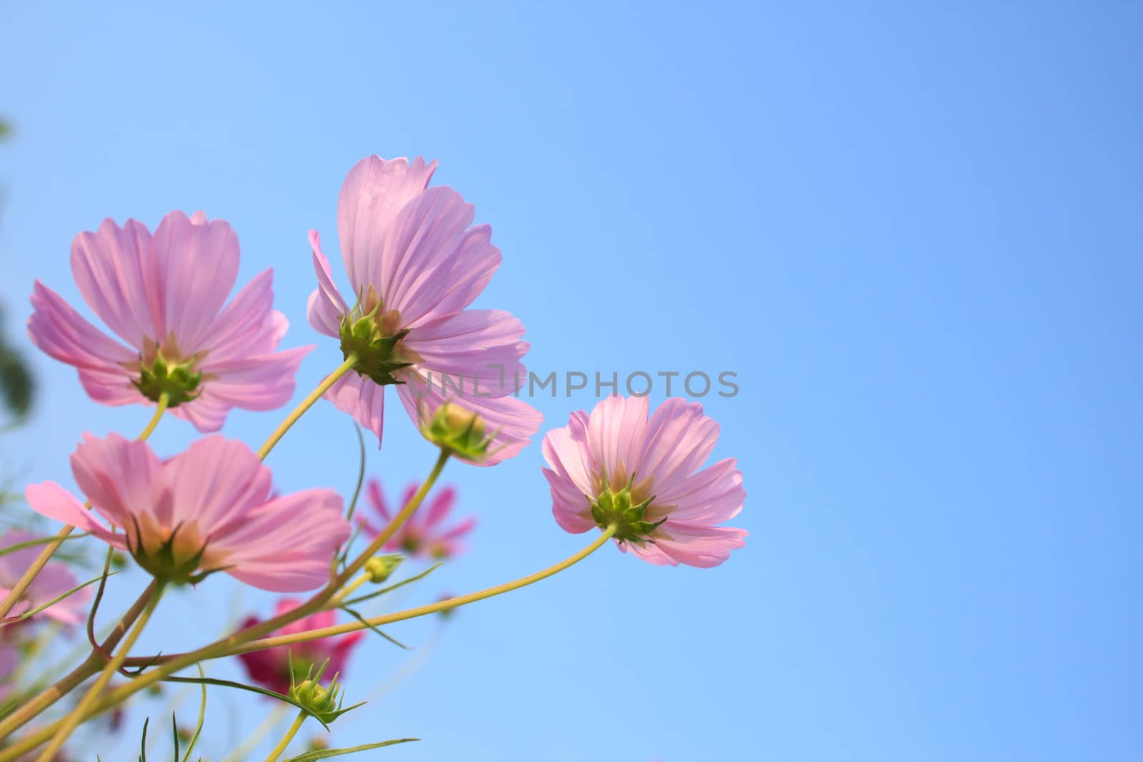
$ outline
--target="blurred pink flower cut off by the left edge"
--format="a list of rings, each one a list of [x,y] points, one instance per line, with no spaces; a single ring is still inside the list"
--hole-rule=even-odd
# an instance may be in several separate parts
[[[22,529],[9,529],[0,540],[0,546],[11,547],[18,543],[26,543],[35,539],[37,535]],[[11,588],[24,576],[24,572],[32,566],[42,545],[32,545],[19,551],[13,551],[0,555],[0,599],[6,597]],[[67,591],[79,583],[67,567],[58,561],[49,561],[40,573],[35,576],[32,584],[27,586],[23,599],[11,610],[9,616],[18,617],[25,611],[39,608]],[[73,625],[83,621],[86,618],[87,603],[91,600],[91,589],[85,587],[75,591],[64,600],[53,603],[37,616],[50,617],[57,621]]]

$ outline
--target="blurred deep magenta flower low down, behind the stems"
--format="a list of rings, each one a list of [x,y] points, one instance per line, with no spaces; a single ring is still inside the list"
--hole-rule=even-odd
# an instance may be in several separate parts
[[[274,616],[293,611],[301,604],[302,602],[297,599],[283,597],[278,601]],[[318,611],[297,621],[291,621],[281,629],[275,629],[273,634],[291,635],[307,629],[331,627],[336,624],[336,619],[337,616],[334,611]],[[262,620],[257,617],[248,617],[242,623],[242,627],[250,627],[259,621]],[[349,660],[350,651],[362,637],[365,637],[365,632],[359,631],[337,637],[322,637],[293,645],[275,645],[261,651],[240,653],[239,658],[242,659],[250,680],[279,693],[288,693],[290,661],[294,664],[294,675],[297,677],[297,682],[305,680],[306,669],[310,667],[313,667],[314,673],[317,673],[326,659],[329,659],[329,664],[326,665],[326,671],[322,673],[322,681],[328,682],[335,674],[341,674],[344,677],[345,663]]]

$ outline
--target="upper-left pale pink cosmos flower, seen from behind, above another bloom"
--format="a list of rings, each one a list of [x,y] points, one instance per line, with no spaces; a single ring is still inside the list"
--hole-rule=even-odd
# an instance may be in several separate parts
[[[154,404],[201,432],[217,431],[231,408],[272,410],[294,393],[294,375],[313,348],[275,352],[285,315],[272,308],[273,271],[254,278],[223,307],[238,276],[238,236],[201,211],[173,211],[152,235],[128,219],[105,219],[72,242],[75,283],[88,306],[127,343],[81,318],[35,281],[32,342],[79,369],[96,402]]]

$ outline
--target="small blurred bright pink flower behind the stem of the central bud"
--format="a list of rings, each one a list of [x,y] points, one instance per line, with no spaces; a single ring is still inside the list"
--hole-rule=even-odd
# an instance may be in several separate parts
[[[418,487],[419,484],[416,483],[409,484],[405,489],[405,495],[401,496],[400,504],[407,504]],[[381,491],[381,482],[376,479],[369,480],[369,503],[381,516],[381,527],[392,521],[395,512],[389,510],[385,496]],[[453,511],[454,503],[456,503],[456,490],[446,487],[437,494],[426,510],[413,514],[413,518],[401,526],[392,539],[385,543],[385,550],[400,551],[413,558],[435,560],[450,559],[463,553],[464,545],[461,543],[461,538],[477,526],[477,518],[469,516],[459,523],[446,528],[445,522]],[[362,520],[361,524],[365,527],[365,531],[374,537],[381,531],[381,528],[369,523],[368,520]]]

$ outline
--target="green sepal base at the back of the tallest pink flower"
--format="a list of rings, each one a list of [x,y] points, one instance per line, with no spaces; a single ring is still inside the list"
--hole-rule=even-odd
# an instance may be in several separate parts
[[[383,311],[382,300],[370,286],[353,310],[342,316],[342,354],[346,359],[355,355],[353,370],[382,386],[403,384],[393,374],[418,359],[401,346],[408,332],[401,328],[401,313]]]

